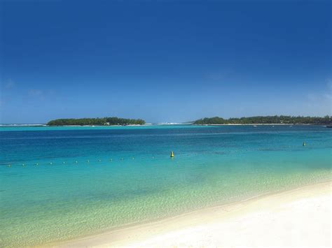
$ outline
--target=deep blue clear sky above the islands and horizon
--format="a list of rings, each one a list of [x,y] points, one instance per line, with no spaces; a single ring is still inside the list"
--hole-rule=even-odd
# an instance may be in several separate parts
[[[331,115],[331,10],[319,0],[0,0],[0,122]]]

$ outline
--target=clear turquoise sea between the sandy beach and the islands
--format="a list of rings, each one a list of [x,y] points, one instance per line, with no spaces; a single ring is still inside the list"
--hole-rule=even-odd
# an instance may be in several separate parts
[[[332,130],[323,126],[0,127],[0,140],[1,246],[332,179]]]

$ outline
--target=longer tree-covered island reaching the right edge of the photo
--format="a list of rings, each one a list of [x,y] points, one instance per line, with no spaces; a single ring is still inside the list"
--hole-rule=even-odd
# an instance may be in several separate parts
[[[223,119],[221,117],[202,118],[198,119],[193,124],[195,125],[212,125],[212,124],[319,124],[331,125],[331,116],[324,117],[302,117],[302,116],[253,116],[241,118]]]

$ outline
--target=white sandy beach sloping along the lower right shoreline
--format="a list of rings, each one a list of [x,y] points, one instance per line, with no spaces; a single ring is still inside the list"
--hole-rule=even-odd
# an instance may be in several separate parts
[[[331,182],[131,226],[56,247],[331,247]]]

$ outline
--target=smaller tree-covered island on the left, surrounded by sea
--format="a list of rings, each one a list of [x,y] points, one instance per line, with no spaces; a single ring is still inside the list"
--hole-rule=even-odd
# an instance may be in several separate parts
[[[81,118],[81,119],[53,119],[47,123],[48,126],[127,126],[144,125],[144,119],[125,119],[118,117],[104,118]]]

